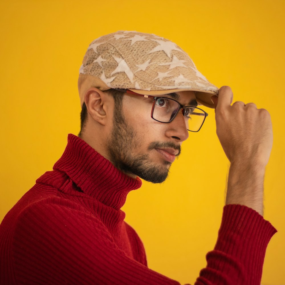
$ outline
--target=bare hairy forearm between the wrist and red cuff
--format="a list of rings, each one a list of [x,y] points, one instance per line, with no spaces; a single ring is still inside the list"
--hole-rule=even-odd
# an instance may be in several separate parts
[[[263,215],[263,181],[265,167],[257,160],[235,161],[229,169],[226,205],[239,204]]]

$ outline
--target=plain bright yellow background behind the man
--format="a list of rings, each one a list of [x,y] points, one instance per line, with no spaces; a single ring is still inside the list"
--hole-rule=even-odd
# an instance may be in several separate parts
[[[285,1],[1,1],[0,221],[78,134],[78,70],[89,43],[117,30],[155,33],[181,46],[213,84],[272,116],[274,144],[265,177],[265,219],[278,233],[263,284],[285,283]],[[162,185],[127,198],[126,221],[144,242],[149,267],[194,283],[217,238],[228,161],[213,110],[191,133]]]

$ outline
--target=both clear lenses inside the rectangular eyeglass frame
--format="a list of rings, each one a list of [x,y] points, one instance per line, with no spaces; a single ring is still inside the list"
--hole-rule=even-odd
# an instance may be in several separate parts
[[[172,99],[157,98],[155,101],[152,117],[162,122],[170,122],[178,113],[180,105]],[[205,120],[205,113],[199,108],[186,107],[184,110],[184,119],[189,131],[197,132]]]

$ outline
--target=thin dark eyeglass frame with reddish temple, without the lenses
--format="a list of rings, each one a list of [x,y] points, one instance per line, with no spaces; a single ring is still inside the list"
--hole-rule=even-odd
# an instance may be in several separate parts
[[[119,88],[113,88],[113,89],[114,89],[114,90],[117,90],[117,91],[124,92],[124,93],[129,93],[129,94],[138,95],[138,96],[145,97],[145,98],[154,99],[153,104],[152,104],[152,109],[151,109],[150,117],[151,117],[154,121],[157,121],[157,122],[160,122],[160,123],[166,123],[166,124],[167,124],[167,123],[172,122],[172,121],[175,119],[175,117],[177,116],[177,114],[180,112],[181,109],[182,109],[182,114],[183,114],[183,116],[184,116],[185,108],[186,108],[186,107],[191,107],[191,108],[199,109],[199,110],[202,111],[203,113],[192,113],[192,114],[198,115],[198,116],[204,116],[203,122],[201,123],[201,126],[200,126],[200,128],[198,129],[198,131],[191,131],[191,130],[187,129],[187,130],[190,131],[190,132],[194,132],[194,133],[199,132],[200,129],[201,129],[201,127],[203,126],[203,124],[204,124],[204,122],[205,122],[206,117],[208,116],[208,113],[205,112],[204,110],[202,110],[202,109],[200,109],[200,108],[198,108],[198,107],[196,107],[196,106],[184,106],[184,105],[180,104],[178,101],[176,101],[176,100],[174,100],[174,99],[172,99],[172,98],[156,97],[156,96],[152,96],[152,95],[143,95],[143,94],[135,93],[135,92],[133,92],[133,91],[131,91],[131,90],[129,90],[129,89],[119,89]],[[156,120],[156,119],[153,117],[154,107],[155,107],[156,101],[157,101],[158,99],[168,99],[168,100],[172,100],[172,101],[178,103],[179,106],[180,106],[180,107],[178,108],[176,114],[173,116],[173,118],[172,118],[169,122],[162,122],[162,121]]]

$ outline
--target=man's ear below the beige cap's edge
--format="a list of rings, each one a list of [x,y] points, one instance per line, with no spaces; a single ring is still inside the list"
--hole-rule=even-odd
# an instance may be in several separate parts
[[[87,108],[87,112],[94,121],[97,121],[101,125],[106,123],[106,105],[107,105],[107,94],[98,88],[89,88],[84,97],[84,103]]]

